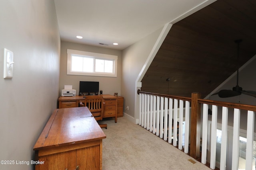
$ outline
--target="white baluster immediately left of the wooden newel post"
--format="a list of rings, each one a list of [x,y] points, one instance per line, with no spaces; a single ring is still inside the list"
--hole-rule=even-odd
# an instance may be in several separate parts
[[[188,153],[188,145],[189,145],[189,102],[185,102],[185,145],[184,152]]]

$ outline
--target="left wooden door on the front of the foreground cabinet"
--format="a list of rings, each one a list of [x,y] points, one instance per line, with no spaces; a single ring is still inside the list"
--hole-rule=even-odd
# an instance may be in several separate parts
[[[73,170],[76,169],[76,150],[40,156],[44,164],[36,165],[36,170]]]

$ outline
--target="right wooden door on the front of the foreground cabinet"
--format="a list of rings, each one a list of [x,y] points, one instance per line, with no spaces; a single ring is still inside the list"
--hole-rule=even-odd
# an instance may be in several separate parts
[[[76,163],[80,170],[101,169],[100,145],[76,150]]]

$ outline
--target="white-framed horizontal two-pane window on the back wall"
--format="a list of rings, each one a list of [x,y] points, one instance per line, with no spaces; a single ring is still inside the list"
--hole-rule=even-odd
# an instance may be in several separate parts
[[[117,56],[87,51],[67,50],[67,74],[117,76]]]

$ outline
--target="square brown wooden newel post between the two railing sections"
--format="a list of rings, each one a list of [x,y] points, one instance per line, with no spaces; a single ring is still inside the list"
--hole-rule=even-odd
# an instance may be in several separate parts
[[[200,157],[200,119],[201,105],[198,104],[200,93],[191,94],[191,128],[190,128],[190,156]]]

